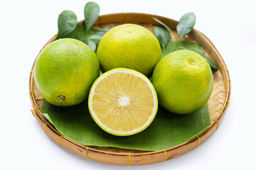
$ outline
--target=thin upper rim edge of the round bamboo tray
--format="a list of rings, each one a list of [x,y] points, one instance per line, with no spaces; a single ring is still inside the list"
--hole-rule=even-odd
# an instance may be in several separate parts
[[[151,17],[155,17],[155,18],[159,18],[159,19],[165,19],[165,20],[171,20],[171,21],[174,21],[176,23],[178,23],[178,21],[175,21],[171,18],[166,18],[164,16],[157,16],[157,15],[153,15],[153,14],[149,14],[149,13],[108,13],[108,14],[105,14],[105,15],[101,15],[99,16],[98,20],[100,23],[98,24],[95,24],[96,26],[97,25],[101,25],[101,20],[102,18],[104,17],[108,17],[108,16],[119,16],[119,15],[124,15],[124,16],[129,16],[129,15],[142,15],[142,16],[151,16]],[[78,23],[83,23],[84,20],[82,21],[79,21]],[[223,60],[223,57],[221,57],[220,53],[218,52],[218,50],[215,48],[215,46],[213,45],[213,42],[210,41],[210,39],[208,37],[206,37],[206,35],[204,35],[203,33],[201,33],[200,31],[196,30],[195,28],[193,28],[192,30],[193,32],[195,33],[198,33],[201,35],[201,38],[204,38],[206,39],[206,41],[212,45],[210,50],[215,50],[215,52],[217,53],[219,59],[220,59],[220,62],[222,63],[221,66],[218,65],[218,68],[219,69],[223,69],[221,71],[224,71],[224,72],[220,72],[220,74],[225,74],[225,77],[226,77],[226,81],[227,80],[230,80],[230,74],[228,72],[228,68],[226,67],[226,64]],[[55,37],[56,35],[54,35],[52,38],[50,38],[50,40],[48,40],[48,42],[46,42],[46,45],[43,46],[43,48],[45,48],[48,43],[52,42],[53,40],[55,40]],[[41,51],[43,50],[43,48],[40,50],[40,52],[38,52],[38,55],[41,53]],[[38,57],[37,55],[37,57]],[[36,57],[36,59],[37,59]],[[33,67],[34,67],[34,64],[36,63],[36,59],[35,61],[33,62],[33,66],[31,67],[31,72],[30,72],[30,75],[29,75],[29,96],[31,98],[31,102],[32,102],[32,105],[33,105],[33,108],[36,108],[37,106],[37,103],[36,103],[36,98],[35,96],[31,93],[31,91],[33,91],[33,87],[32,87],[32,80],[33,80]],[[225,67],[223,67],[225,66]],[[221,67],[221,68],[220,68]],[[223,67],[223,68],[222,68]],[[223,78],[224,79],[224,78]],[[230,81],[227,82],[227,86],[225,86],[226,89],[225,89],[225,98],[224,100],[225,101],[230,101],[230,92],[231,92],[231,84],[230,84]],[[229,105],[229,102],[225,102],[223,103],[223,108],[222,110],[220,111],[220,114],[218,115],[218,118],[216,118],[216,121],[214,121],[213,123],[210,124],[210,126],[204,130],[200,135],[198,135],[199,138],[203,137],[204,135],[206,135],[208,132],[210,132],[210,130],[213,130],[213,128],[218,128],[218,125],[220,124],[222,118],[223,118],[223,115],[225,114],[225,111],[227,111],[228,109],[228,105]],[[59,137],[61,137],[62,135],[60,134],[60,132],[58,132],[57,130],[55,130],[55,128],[53,127],[53,125],[51,125],[48,120],[46,120],[46,118],[43,117],[41,111],[39,108],[36,108],[34,109],[34,116],[36,117],[37,120],[41,120],[41,122],[43,124],[47,124],[45,126],[45,128],[48,128],[49,130],[52,130],[56,135],[58,135]],[[218,122],[217,122],[218,121]],[[87,150],[90,150],[92,152],[98,152],[98,153],[101,153],[101,154],[108,154],[108,155],[114,155],[114,156],[128,156],[128,157],[140,157],[140,156],[145,156],[145,155],[156,155],[156,154],[163,154],[164,152],[171,152],[171,151],[174,151],[176,149],[180,149],[181,147],[186,147],[187,145],[191,144],[192,142],[195,142],[196,140],[198,140],[198,137],[193,137],[193,139],[191,140],[188,140],[187,142],[183,142],[182,144],[180,145],[176,145],[175,147],[170,147],[168,149],[162,149],[162,150],[159,150],[159,151],[151,151],[151,152],[144,152],[144,153],[132,153],[132,154],[127,154],[127,153],[117,153],[117,152],[109,152],[109,151],[103,151],[103,150],[100,150],[100,149],[95,149],[95,148],[92,148],[92,147],[86,147],[84,145],[80,145],[76,142],[73,142],[72,140],[69,140],[67,137],[63,136],[62,139],[63,140],[66,140],[67,142],[70,142],[71,144],[73,145],[76,145],[78,147],[82,147],[84,149],[87,149]],[[200,140],[199,140],[200,142]]]

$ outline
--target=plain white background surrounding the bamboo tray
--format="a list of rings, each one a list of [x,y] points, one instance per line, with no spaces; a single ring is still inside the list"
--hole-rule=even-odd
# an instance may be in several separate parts
[[[254,1],[97,1],[100,14],[152,13],[178,20],[196,13],[195,28],[212,40],[228,66],[231,100],[218,130],[200,147],[167,162],[117,166],[80,157],[50,140],[31,114],[33,61],[57,33],[58,14],[83,19],[87,1],[0,2],[0,169],[255,169]]]

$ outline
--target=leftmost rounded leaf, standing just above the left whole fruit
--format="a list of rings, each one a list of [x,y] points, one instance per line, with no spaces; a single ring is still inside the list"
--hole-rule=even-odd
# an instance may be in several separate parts
[[[73,13],[73,11],[63,11],[58,16],[58,34],[57,38],[63,38],[68,35],[78,24],[78,17]]]

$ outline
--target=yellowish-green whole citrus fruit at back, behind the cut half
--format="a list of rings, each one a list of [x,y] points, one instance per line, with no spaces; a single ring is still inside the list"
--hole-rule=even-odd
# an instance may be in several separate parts
[[[124,24],[108,31],[97,47],[97,57],[104,72],[124,67],[149,77],[161,59],[161,47],[146,28]]]

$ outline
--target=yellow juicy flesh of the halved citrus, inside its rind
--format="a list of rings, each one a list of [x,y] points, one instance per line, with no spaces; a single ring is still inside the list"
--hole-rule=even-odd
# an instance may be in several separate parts
[[[111,130],[129,132],[141,128],[153,113],[154,93],[142,77],[115,72],[95,87],[92,110]]]

